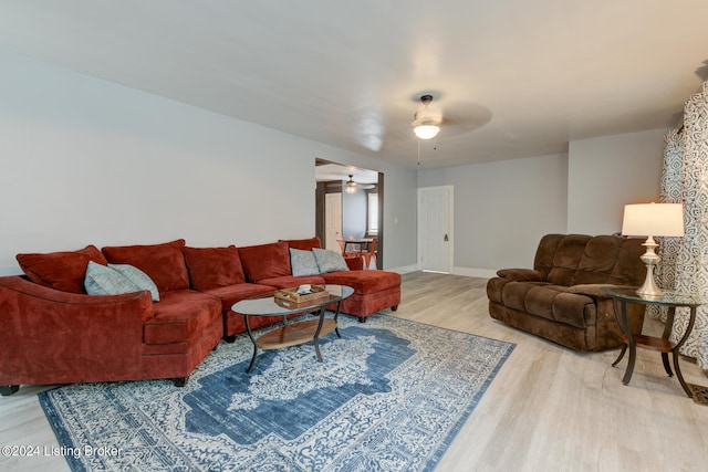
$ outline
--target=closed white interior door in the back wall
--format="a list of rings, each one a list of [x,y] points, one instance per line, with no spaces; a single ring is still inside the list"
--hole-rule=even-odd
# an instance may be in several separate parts
[[[418,264],[421,271],[451,272],[452,187],[418,189]]]

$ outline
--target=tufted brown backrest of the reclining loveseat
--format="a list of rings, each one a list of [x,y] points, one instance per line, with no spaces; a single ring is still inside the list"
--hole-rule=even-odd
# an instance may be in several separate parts
[[[639,285],[646,274],[639,260],[643,252],[637,239],[546,234],[539,243],[534,269],[555,285]]]

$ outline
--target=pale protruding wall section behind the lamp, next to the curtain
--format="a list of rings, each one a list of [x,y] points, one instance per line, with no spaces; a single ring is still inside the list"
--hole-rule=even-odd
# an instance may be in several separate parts
[[[568,230],[613,234],[626,203],[658,201],[667,129],[570,143]]]

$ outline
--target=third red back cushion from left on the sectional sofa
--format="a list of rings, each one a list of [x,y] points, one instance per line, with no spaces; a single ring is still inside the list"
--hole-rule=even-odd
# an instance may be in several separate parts
[[[200,292],[246,282],[239,251],[228,248],[181,249],[189,271],[191,287]]]

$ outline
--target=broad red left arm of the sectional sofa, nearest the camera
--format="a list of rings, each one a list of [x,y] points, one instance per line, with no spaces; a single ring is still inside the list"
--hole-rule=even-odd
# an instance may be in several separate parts
[[[139,378],[148,291],[81,295],[0,277],[0,385]]]

